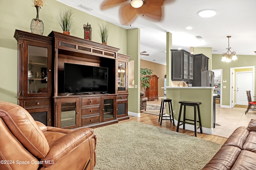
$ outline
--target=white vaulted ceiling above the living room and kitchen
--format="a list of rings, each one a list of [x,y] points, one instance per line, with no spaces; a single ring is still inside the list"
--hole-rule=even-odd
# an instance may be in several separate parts
[[[212,47],[213,54],[222,54],[227,52],[226,36],[230,35],[231,51],[236,55],[255,55],[256,0],[169,0],[164,4],[162,21],[138,17],[131,26],[121,25],[120,5],[101,11],[103,0],[57,1],[125,29],[140,28],[140,51],[150,54],[141,56],[143,60],[166,64],[166,32],[172,33],[172,49],[181,47],[190,51],[190,47]],[[82,9],[79,7],[81,4],[93,10]],[[201,18],[197,12],[204,9],[214,9],[218,14],[212,18]],[[193,29],[185,29],[187,26]]]

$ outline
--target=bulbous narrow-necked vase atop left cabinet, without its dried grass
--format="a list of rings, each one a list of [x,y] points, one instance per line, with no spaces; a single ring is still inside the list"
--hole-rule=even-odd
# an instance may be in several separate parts
[[[32,19],[30,23],[30,29],[32,33],[43,35],[44,33],[44,23],[42,20],[39,19],[39,10],[40,6],[36,7],[36,18]]]

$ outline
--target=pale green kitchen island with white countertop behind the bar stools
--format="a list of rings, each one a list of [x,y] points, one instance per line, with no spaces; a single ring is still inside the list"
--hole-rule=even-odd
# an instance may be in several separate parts
[[[172,100],[172,107],[174,111],[175,125],[178,123],[178,116],[180,111],[180,101],[201,102],[200,115],[202,121],[203,133],[213,134],[213,125],[215,112],[213,113],[214,103],[214,87],[164,87],[166,88],[166,98]],[[169,109],[167,109],[168,113]],[[169,114],[169,113],[168,113]],[[183,109],[182,109],[183,116]],[[186,118],[194,119],[194,107],[186,107]],[[183,119],[181,117],[181,119]],[[180,126],[182,128],[182,126]],[[194,125],[186,124],[186,129],[194,131]],[[198,129],[198,131],[200,131]]]

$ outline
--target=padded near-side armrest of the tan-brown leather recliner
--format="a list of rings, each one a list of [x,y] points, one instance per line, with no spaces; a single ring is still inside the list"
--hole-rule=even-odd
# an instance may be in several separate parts
[[[93,146],[89,145],[91,141],[82,145],[82,143],[84,143],[87,139],[92,140],[92,138],[94,138],[94,130],[92,128],[82,128],[64,135],[63,137],[59,138],[54,143],[52,143],[52,145],[50,145],[50,150],[48,154],[44,159],[42,159],[43,160],[42,166],[46,166],[46,167],[51,166],[52,162],[56,164],[62,158],[64,157],[68,158],[66,155],[69,152],[72,152],[74,151],[74,149],[77,149],[77,148],[79,150],[80,146],[87,145],[87,143],[88,143],[88,147],[86,147],[86,149],[92,148]],[[92,149],[93,151],[90,151],[90,152],[94,152],[95,145],[94,145],[94,148]],[[77,156],[80,156],[80,155],[77,155]],[[49,164],[47,164],[48,162]]]

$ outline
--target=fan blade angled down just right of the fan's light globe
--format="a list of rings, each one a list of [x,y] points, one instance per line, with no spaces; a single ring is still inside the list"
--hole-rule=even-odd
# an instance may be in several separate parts
[[[146,3],[143,7],[138,8],[138,13],[140,16],[144,16],[147,19],[161,21],[163,18],[163,10],[163,6],[154,6]]]

